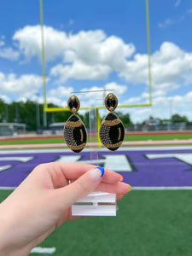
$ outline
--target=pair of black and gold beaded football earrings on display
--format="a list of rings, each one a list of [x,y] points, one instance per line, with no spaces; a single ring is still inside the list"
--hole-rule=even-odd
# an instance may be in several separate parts
[[[105,106],[110,111],[102,120],[99,136],[102,144],[111,151],[117,150],[123,143],[125,130],[119,117],[113,113],[117,108],[118,99],[113,93],[109,93],[105,97]],[[64,127],[64,137],[68,148],[72,149],[74,153],[80,153],[87,141],[87,131],[84,123],[76,114],[80,108],[79,98],[71,96],[68,99],[67,106],[73,113]]]

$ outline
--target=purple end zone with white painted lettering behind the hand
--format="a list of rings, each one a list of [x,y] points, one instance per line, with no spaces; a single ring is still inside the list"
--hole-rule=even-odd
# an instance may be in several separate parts
[[[66,150],[0,152],[0,186],[16,187],[35,166],[52,161],[90,163],[90,153]],[[99,165],[123,175],[133,187],[192,186],[192,148],[99,151]]]

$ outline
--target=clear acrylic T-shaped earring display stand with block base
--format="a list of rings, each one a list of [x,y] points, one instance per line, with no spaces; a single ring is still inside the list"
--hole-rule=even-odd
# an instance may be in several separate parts
[[[103,104],[106,93],[109,92],[113,92],[113,90],[79,91],[72,93],[77,96],[83,95],[84,93],[90,94],[90,101],[87,102],[89,104],[90,119],[90,130],[88,131],[90,137],[90,165],[99,166],[96,106],[101,103]],[[96,146],[94,147],[93,145]],[[72,206],[72,215],[116,216],[116,195],[105,192],[90,193],[90,195],[80,199]]]

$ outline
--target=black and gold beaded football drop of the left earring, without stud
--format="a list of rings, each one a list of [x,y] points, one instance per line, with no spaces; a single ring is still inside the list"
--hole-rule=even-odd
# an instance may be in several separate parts
[[[67,119],[64,138],[68,148],[72,149],[74,153],[80,153],[84,149],[87,142],[87,131],[78,115],[73,114]]]

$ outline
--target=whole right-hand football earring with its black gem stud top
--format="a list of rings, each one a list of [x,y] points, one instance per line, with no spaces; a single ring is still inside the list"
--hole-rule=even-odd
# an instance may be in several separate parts
[[[124,125],[119,117],[113,113],[113,110],[117,108],[118,99],[113,93],[109,93],[105,97],[105,106],[110,113],[102,120],[99,136],[102,144],[109,150],[115,151],[123,143],[125,130]]]

